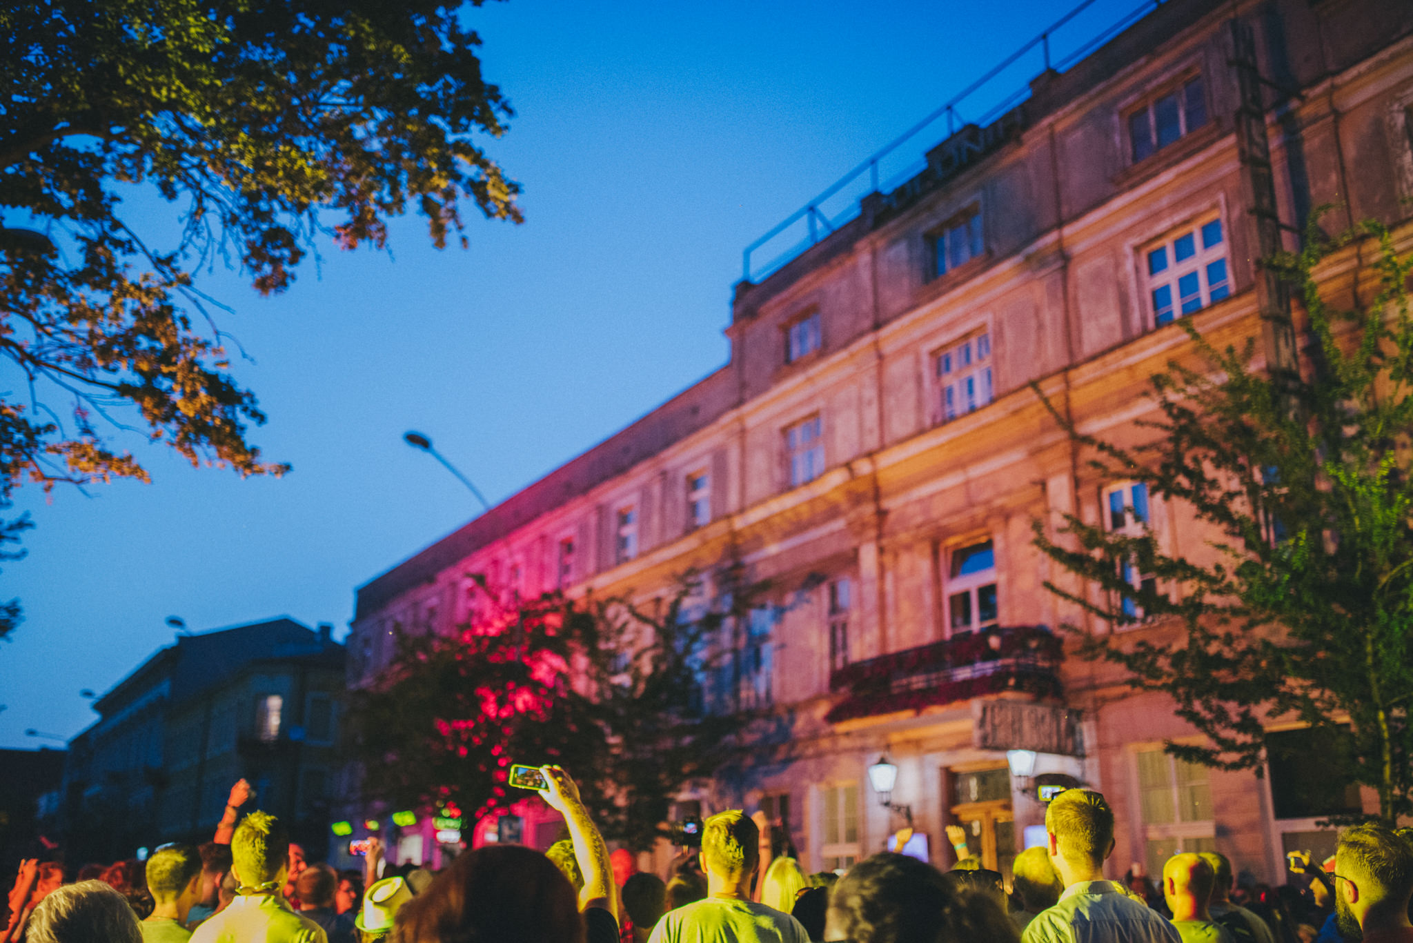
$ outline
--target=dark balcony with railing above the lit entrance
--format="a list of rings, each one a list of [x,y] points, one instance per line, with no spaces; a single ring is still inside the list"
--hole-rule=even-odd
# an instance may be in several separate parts
[[[1064,645],[1044,625],[986,629],[892,652],[829,676],[829,690],[846,697],[825,720],[921,711],[1003,691],[1058,697],[1063,656]]]

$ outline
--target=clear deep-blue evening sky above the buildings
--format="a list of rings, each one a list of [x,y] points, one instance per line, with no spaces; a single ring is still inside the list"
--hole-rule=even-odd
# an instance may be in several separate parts
[[[1149,4],[1152,6],[1152,4]],[[503,500],[726,359],[742,249],[1063,16],[1071,3],[512,0],[471,10],[485,74],[517,115],[490,154],[526,223],[471,219],[471,249],[393,226],[390,253],[322,246],[294,287],[202,287],[250,359],[281,481],[194,469],[119,434],[150,485],[23,492],[28,557],[0,594],[27,618],[0,643],[0,745],[71,737],[103,691],[196,631],[352,618],[353,588],[478,505],[401,435],[420,430]],[[1075,48],[1137,7],[1095,0]],[[1039,49],[975,117],[1040,71]],[[945,136],[900,148],[885,181]],[[136,194],[150,232],[172,211]],[[472,211],[473,212],[473,211]],[[58,404],[57,404],[58,406]]]

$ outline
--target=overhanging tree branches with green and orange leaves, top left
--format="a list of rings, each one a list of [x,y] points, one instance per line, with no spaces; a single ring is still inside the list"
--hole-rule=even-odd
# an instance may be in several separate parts
[[[107,421],[194,465],[287,471],[247,441],[266,417],[229,373],[202,266],[239,266],[273,294],[319,238],[383,247],[410,206],[438,247],[468,201],[520,221],[517,185],[473,140],[502,134],[510,109],[482,79],[462,7],[0,8],[0,356],[16,368],[0,394],[0,506],[24,481],[147,481]],[[162,245],[129,215],[133,185],[172,204]]]

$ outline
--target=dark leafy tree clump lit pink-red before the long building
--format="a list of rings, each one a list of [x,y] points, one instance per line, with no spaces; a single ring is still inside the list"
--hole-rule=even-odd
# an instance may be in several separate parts
[[[557,762],[606,837],[650,848],[673,796],[733,749],[740,717],[706,711],[698,681],[749,591],[711,607],[692,605],[695,580],[647,608],[557,592],[483,598],[455,636],[398,628],[390,666],[355,691],[365,797],[452,803],[475,819],[526,796],[506,786],[512,763]]]

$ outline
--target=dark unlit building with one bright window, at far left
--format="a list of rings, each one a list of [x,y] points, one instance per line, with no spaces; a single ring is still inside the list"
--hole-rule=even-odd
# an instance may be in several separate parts
[[[288,618],[179,635],[93,703],[69,741],[65,844],[85,861],[208,841],[230,786],[324,843],[343,646]]]

